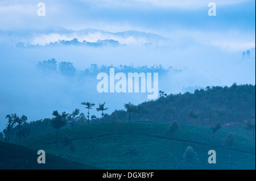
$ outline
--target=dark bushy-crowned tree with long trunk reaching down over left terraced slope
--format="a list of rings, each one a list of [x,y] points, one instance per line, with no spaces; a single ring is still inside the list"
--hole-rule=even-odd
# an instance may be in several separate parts
[[[64,127],[67,124],[67,116],[68,114],[63,112],[61,115],[58,111],[53,111],[52,115],[55,116],[51,120],[51,124],[53,128],[56,129],[56,147],[58,148],[58,131],[61,127]]]

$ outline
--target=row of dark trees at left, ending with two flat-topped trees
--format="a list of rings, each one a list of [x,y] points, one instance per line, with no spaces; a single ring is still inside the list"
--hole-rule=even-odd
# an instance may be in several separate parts
[[[72,128],[74,125],[84,125],[89,124],[89,121],[98,123],[100,121],[99,118],[97,118],[95,115],[89,116],[89,110],[92,109],[93,106],[95,106],[94,103],[90,102],[82,102],[82,105],[85,105],[85,108],[88,109],[88,115],[85,116],[84,113],[80,113],[79,109],[75,109],[72,113],[66,113],[62,112],[59,113],[57,110],[53,111],[52,115],[53,118],[45,118],[43,120],[38,121],[31,121],[30,123],[27,123],[27,116],[17,116],[16,113],[12,113],[11,115],[7,115],[6,119],[8,119],[8,123],[6,124],[6,128],[3,130],[3,133],[5,134],[5,138],[3,138],[2,132],[0,132],[0,141],[5,140],[6,142],[10,142],[10,137],[12,137],[11,142],[20,142],[20,138],[26,138],[28,135],[35,136],[38,134],[46,133],[49,131],[56,130],[56,136],[58,135],[58,131],[61,128]],[[108,110],[107,107],[105,107],[105,102],[102,104],[99,104],[99,106],[96,108],[97,111],[101,112],[102,116],[102,123],[104,119],[104,111]],[[79,115],[80,113],[80,115]],[[86,118],[87,117],[87,118]],[[18,131],[17,131],[18,129]],[[16,137],[18,136],[18,137]],[[18,138],[18,140],[17,140]],[[56,144],[58,143],[58,136]]]

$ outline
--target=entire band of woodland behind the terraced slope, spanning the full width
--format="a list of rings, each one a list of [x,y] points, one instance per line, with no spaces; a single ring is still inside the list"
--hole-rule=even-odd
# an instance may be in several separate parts
[[[160,91],[160,97],[157,100],[138,105],[129,102],[124,104],[122,110],[115,110],[110,115],[104,112],[107,109],[105,103],[99,104],[96,109],[101,113],[101,117],[89,114],[90,109],[95,108],[93,107],[94,103],[82,102],[82,104],[85,106],[83,111],[86,113],[81,110],[77,112],[77,109],[74,108],[75,116],[74,112],[69,113],[66,116],[67,124],[60,129],[102,123],[103,120],[104,122],[148,120],[168,123],[177,121],[183,124],[209,127],[209,132],[217,123],[221,123],[221,127],[225,127],[228,125],[246,125],[246,123],[251,122],[254,123],[253,131],[255,129],[255,85],[237,85],[234,83],[230,87],[213,86],[207,87],[205,90],[195,90],[193,94],[185,92],[184,94],[167,95],[164,91]],[[55,131],[51,124],[52,119],[45,118],[30,123],[24,122],[22,128],[29,128],[29,136]],[[16,136],[16,133],[19,129],[18,125],[10,129],[10,142],[18,141],[19,137]],[[8,137],[7,129],[3,133]],[[21,136],[20,138],[24,137]]]

